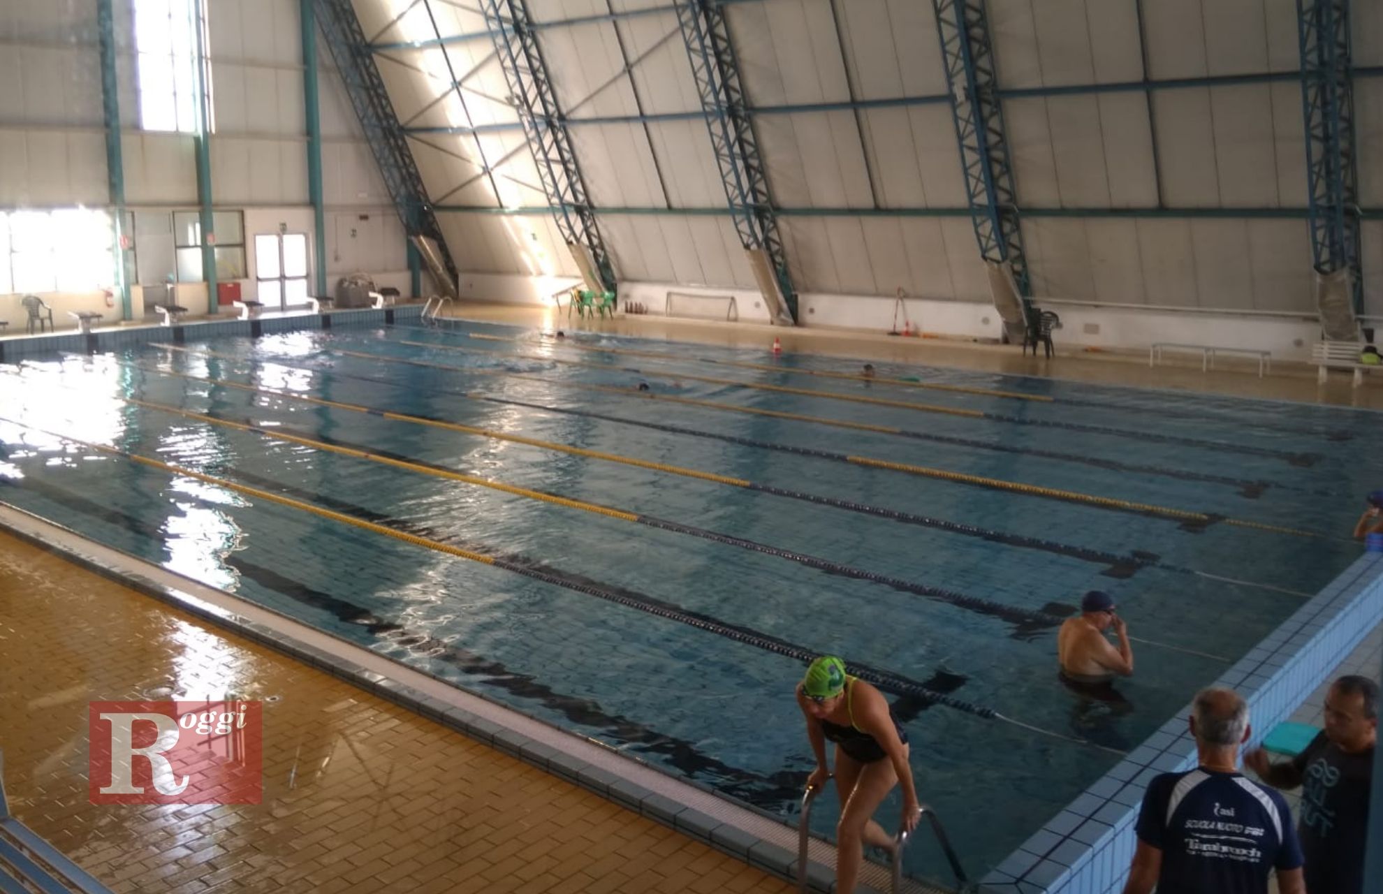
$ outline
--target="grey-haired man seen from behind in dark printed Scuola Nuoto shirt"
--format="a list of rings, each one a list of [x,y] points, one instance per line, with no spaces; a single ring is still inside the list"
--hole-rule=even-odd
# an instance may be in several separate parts
[[[1304,894],[1301,846],[1281,794],[1239,775],[1249,706],[1231,689],[1196,695],[1191,735],[1200,765],[1148,783],[1124,894]]]

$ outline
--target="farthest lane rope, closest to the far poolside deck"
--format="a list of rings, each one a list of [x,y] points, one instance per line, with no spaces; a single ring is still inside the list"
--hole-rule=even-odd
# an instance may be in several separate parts
[[[447,322],[448,325],[447,327],[437,325],[436,328],[433,328],[433,327],[409,327],[409,325],[400,325],[400,324],[387,324],[386,328],[409,329],[409,331],[414,331],[414,332],[444,331],[444,332],[451,332],[451,334],[455,334],[455,335],[462,335],[465,338],[481,339],[481,340],[492,340],[492,342],[512,342],[512,343],[519,343],[519,342],[524,340],[523,336],[502,338],[502,336],[496,336],[496,335],[485,335],[485,334],[480,334],[480,332],[461,331],[458,328],[458,325],[462,321],[459,321],[459,320],[438,320],[438,324],[441,324],[441,322]],[[625,349],[625,347],[609,347],[609,346],[604,346],[604,345],[585,345],[585,343],[582,343],[584,339],[581,339],[581,338],[573,338],[570,335],[564,340],[561,340],[561,342],[557,342],[556,339],[553,339],[546,332],[542,332],[541,335],[542,335],[542,339],[545,339],[545,342],[542,342],[542,343],[545,343],[548,346],[563,346],[563,347],[570,347],[570,349],[575,349],[575,350],[589,350],[589,352],[607,353],[607,354],[635,354],[635,356],[640,356],[640,357],[656,357],[656,358],[662,358],[662,360],[671,360],[671,361],[675,361],[675,363],[708,363],[708,364],[715,364],[715,365],[721,365],[721,367],[740,367],[740,368],[747,368],[747,370],[762,370],[762,371],[766,371],[766,372],[780,372],[780,374],[784,374],[784,375],[815,375],[815,376],[824,376],[824,378],[833,378],[833,379],[851,379],[851,381],[859,381],[859,382],[870,382],[873,385],[887,385],[887,386],[893,386],[893,387],[928,387],[928,389],[952,390],[952,392],[961,392],[961,393],[990,394],[990,396],[994,396],[994,397],[1017,397],[1017,399],[1021,399],[1021,400],[1036,400],[1036,401],[1043,401],[1043,403],[1058,403],[1058,404],[1070,405],[1070,407],[1090,407],[1090,408],[1094,408],[1094,410],[1111,410],[1111,411],[1115,411],[1115,412],[1156,412],[1158,415],[1176,417],[1176,418],[1182,418],[1182,419],[1212,419],[1212,421],[1220,421],[1221,419],[1221,417],[1218,414],[1216,414],[1214,411],[1212,411],[1212,410],[1191,410],[1191,408],[1158,407],[1156,410],[1149,411],[1149,410],[1145,410],[1145,408],[1141,408],[1141,407],[1131,407],[1129,404],[1119,404],[1119,403],[1113,403],[1113,401],[1101,401],[1101,400],[1091,400],[1091,399],[1082,399],[1082,397],[1066,397],[1066,396],[1052,397],[1050,394],[1034,394],[1032,392],[1001,392],[1001,390],[994,390],[994,389],[989,389],[989,387],[983,387],[983,386],[978,386],[978,385],[956,385],[956,383],[947,383],[947,382],[931,382],[931,381],[910,379],[910,378],[866,376],[866,375],[860,375],[857,372],[852,374],[852,372],[841,372],[838,370],[816,370],[816,368],[812,368],[812,367],[783,367],[783,365],[769,365],[769,364],[761,364],[761,363],[722,360],[722,358],[715,358],[715,357],[682,357],[679,354],[671,354],[671,353],[667,353],[667,352],[654,352],[654,350],[643,350],[643,349],[631,350],[631,349]],[[921,370],[921,371],[925,371],[925,372],[940,372],[940,374],[949,372],[949,370],[938,368],[938,367],[928,367],[928,365],[907,364],[907,368],[909,370]],[[1010,374],[1004,374],[1004,372],[996,372],[994,375],[997,375],[999,378],[1003,378],[1003,379],[1018,379],[1019,382],[1032,381],[1032,376],[1026,376],[1026,375],[1018,375],[1018,376],[1015,376],[1015,375],[1010,375]],[[1279,433],[1285,433],[1285,435],[1297,435],[1297,436],[1303,436],[1303,437],[1324,437],[1328,441],[1347,441],[1347,440],[1353,440],[1354,439],[1354,433],[1353,432],[1344,432],[1344,430],[1340,430],[1340,429],[1330,429],[1330,430],[1304,429],[1304,428],[1290,426],[1290,425],[1272,425],[1271,422],[1250,422],[1250,421],[1241,421],[1239,425],[1243,425],[1245,428],[1254,428],[1254,429],[1261,429],[1261,430],[1267,430],[1267,432],[1279,432]]]

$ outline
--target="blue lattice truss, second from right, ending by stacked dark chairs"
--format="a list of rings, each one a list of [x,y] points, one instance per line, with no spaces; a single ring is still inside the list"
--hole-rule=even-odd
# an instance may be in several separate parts
[[[985,260],[1008,262],[1026,306],[1032,295],[1014,169],[1004,138],[993,43],[983,0],[932,0],[950,86],[956,141],[975,241]]]

